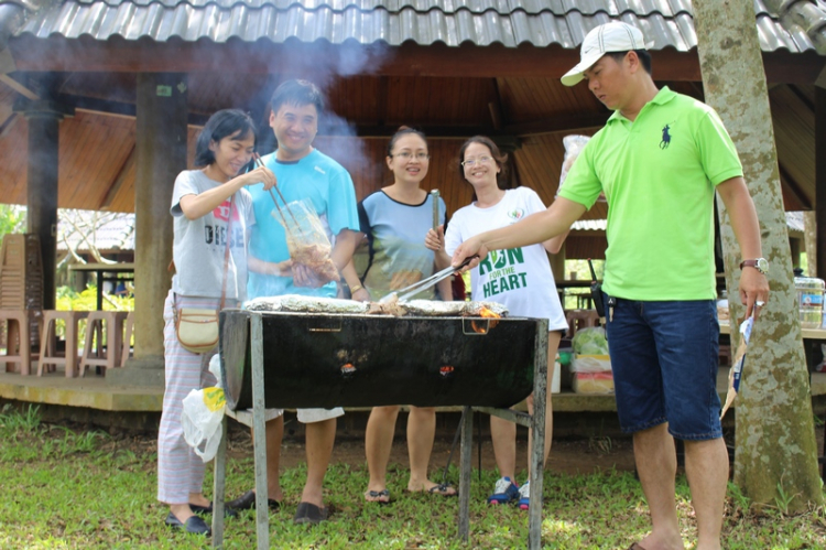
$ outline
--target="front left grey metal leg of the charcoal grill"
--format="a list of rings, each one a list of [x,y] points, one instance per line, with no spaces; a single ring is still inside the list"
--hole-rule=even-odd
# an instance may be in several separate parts
[[[256,460],[256,533],[258,550],[270,548],[270,507],[267,503],[267,429],[264,428],[264,349],[260,314],[250,317],[252,352],[252,445]]]

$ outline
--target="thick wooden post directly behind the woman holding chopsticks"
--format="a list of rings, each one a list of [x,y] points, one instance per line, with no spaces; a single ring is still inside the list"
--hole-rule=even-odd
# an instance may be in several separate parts
[[[134,358],[129,368],[117,369],[122,371],[112,382],[163,386],[163,304],[172,282],[166,270],[173,240],[170,203],[175,177],[186,169],[186,75],[139,74],[135,122]]]

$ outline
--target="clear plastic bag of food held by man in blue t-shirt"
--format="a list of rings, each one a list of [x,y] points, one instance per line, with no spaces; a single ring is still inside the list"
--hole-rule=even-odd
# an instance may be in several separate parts
[[[294,201],[286,207],[276,207],[272,215],[284,226],[286,248],[293,266],[306,267],[324,282],[340,278],[329,257],[333,247],[327,231],[312,204]]]

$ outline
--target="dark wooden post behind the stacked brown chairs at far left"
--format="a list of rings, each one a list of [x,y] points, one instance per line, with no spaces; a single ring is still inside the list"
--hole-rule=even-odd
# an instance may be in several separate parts
[[[29,121],[26,173],[28,233],[40,238],[43,262],[43,309],[55,308],[57,265],[57,149],[59,123],[70,111],[54,101],[22,99],[14,104]]]

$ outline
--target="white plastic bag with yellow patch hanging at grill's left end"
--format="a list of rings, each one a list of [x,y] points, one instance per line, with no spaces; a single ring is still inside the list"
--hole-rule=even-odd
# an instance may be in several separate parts
[[[220,385],[220,358],[218,354],[209,362],[209,371]],[[221,421],[226,410],[226,396],[220,387],[194,389],[184,398],[181,423],[184,439],[195,454],[209,462],[218,452],[221,441]]]

